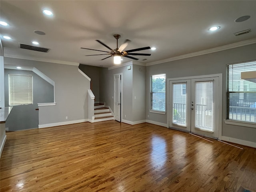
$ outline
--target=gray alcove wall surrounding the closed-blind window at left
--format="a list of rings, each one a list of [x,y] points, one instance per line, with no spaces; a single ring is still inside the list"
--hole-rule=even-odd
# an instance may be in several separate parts
[[[54,87],[32,71],[4,69],[5,106],[9,106],[8,74],[31,74],[33,76],[33,104],[13,106],[6,121],[9,130],[38,128],[38,103],[54,102]]]

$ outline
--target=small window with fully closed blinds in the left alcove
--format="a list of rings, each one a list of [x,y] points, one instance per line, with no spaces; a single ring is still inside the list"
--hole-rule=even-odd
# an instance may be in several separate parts
[[[33,104],[32,75],[9,74],[9,105]]]

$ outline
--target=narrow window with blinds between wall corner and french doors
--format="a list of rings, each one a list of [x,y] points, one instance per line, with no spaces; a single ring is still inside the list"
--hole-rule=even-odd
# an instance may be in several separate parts
[[[151,76],[150,110],[165,112],[165,74]]]

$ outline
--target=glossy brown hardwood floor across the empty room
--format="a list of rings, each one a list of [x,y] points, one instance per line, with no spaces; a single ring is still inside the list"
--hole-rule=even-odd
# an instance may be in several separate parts
[[[256,191],[256,149],[114,120],[7,132],[1,192]]]

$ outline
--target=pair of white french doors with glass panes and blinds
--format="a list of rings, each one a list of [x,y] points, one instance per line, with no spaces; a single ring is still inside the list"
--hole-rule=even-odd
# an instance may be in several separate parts
[[[219,77],[169,81],[169,127],[218,138]]]

